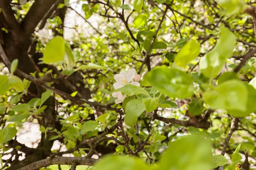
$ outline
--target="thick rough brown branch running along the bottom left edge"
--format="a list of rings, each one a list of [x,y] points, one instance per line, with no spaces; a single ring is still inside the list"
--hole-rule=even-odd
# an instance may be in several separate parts
[[[91,166],[96,162],[97,159],[87,159],[85,157],[74,158],[74,157],[53,157],[43,159],[41,161],[36,161],[32,164],[27,165],[26,167],[19,168],[17,170],[38,170],[41,167],[47,167],[53,164],[63,164],[63,165],[88,165]]]

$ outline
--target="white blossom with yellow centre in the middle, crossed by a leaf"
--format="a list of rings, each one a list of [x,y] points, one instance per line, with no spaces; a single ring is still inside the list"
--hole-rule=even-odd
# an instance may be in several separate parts
[[[131,84],[131,85],[136,85],[140,87],[140,83],[139,82],[134,82],[134,77],[135,77],[136,71],[134,68],[129,69],[127,72],[126,71],[121,71],[119,74],[116,74],[114,76],[114,79],[116,80],[116,82],[113,84],[114,89],[118,89],[118,88],[122,88],[127,84]],[[120,91],[112,93],[113,97],[117,97],[116,104],[122,103],[124,101],[124,99],[127,97],[127,95],[122,95],[122,93]]]

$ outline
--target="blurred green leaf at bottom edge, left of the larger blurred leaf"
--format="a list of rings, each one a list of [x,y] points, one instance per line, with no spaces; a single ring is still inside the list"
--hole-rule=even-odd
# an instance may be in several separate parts
[[[99,160],[93,170],[151,170],[151,167],[137,157],[108,155]]]

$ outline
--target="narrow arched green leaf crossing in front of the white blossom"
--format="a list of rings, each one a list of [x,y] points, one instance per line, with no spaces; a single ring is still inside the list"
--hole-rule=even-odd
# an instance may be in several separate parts
[[[122,93],[127,94],[128,96],[134,96],[136,94],[145,94],[146,96],[150,97],[148,92],[145,91],[143,88],[138,87],[136,85],[131,85],[131,84],[128,84],[122,88],[116,89],[112,93],[117,92],[117,91],[121,91]]]

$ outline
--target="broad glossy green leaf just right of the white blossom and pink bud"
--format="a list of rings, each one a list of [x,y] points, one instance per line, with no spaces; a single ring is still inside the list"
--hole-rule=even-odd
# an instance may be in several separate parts
[[[155,67],[145,75],[145,79],[169,97],[187,98],[192,96],[195,89],[189,74],[166,66]]]

